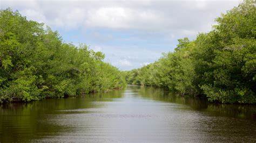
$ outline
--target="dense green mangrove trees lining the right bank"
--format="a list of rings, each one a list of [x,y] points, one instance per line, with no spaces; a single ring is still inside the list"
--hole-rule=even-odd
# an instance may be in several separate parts
[[[208,33],[179,39],[174,52],[125,71],[128,84],[163,87],[221,103],[256,103],[256,8],[248,1],[215,19]]]

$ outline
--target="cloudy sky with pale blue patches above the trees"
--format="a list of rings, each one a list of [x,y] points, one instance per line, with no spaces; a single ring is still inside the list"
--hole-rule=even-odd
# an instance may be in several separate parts
[[[152,63],[173,52],[177,39],[193,40],[208,32],[214,19],[241,1],[71,1],[0,0],[0,9],[58,31],[64,42],[90,46],[105,54],[105,62],[120,70]]]

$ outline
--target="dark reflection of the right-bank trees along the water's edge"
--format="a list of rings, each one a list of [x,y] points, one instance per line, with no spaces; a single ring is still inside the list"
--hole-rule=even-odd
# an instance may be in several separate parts
[[[134,87],[132,91],[137,92],[139,97],[154,101],[188,105],[193,110],[211,113],[214,116],[256,120],[255,105],[208,103],[207,99],[179,96],[175,93],[154,87]]]

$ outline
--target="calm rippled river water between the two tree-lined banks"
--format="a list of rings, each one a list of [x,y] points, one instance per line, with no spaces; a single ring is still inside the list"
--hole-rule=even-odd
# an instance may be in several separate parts
[[[256,106],[127,87],[0,107],[0,141],[256,142]]]

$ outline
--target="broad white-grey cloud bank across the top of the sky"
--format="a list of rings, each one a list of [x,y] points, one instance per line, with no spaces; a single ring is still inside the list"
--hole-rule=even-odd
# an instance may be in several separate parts
[[[82,26],[178,34],[179,31],[207,31],[215,17],[239,2],[30,0],[2,1],[1,9],[18,9],[29,19],[67,30]]]

